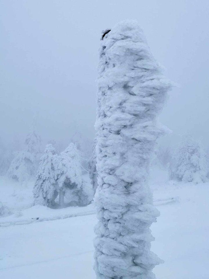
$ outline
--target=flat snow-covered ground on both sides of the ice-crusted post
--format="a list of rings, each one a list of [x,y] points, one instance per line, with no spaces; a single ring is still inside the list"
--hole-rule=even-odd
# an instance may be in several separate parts
[[[156,238],[152,250],[165,260],[154,269],[156,277],[208,279],[209,183],[165,183],[166,179],[163,170],[153,172],[151,179],[154,201],[161,212],[157,223],[151,227]],[[13,202],[10,197],[15,201],[14,187],[10,183],[4,188],[5,191],[10,189],[4,193],[8,197],[6,205],[10,208]],[[0,227],[0,278],[95,278],[92,268],[93,227],[96,223],[93,205],[60,210],[39,206],[29,208],[32,200],[29,203],[26,200],[30,187],[26,189],[28,194],[25,196],[24,190],[18,192],[16,189],[18,201],[15,206],[21,209],[20,216],[16,212],[0,218],[0,223],[36,217],[45,220]],[[52,220],[56,217],[57,220]]]

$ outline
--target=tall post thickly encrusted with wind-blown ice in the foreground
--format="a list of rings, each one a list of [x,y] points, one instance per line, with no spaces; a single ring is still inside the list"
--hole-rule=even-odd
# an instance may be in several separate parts
[[[106,33],[106,32],[105,32]],[[147,186],[150,157],[163,133],[157,116],[171,84],[135,21],[103,36],[98,76],[95,271],[99,279],[151,279],[156,221]]]

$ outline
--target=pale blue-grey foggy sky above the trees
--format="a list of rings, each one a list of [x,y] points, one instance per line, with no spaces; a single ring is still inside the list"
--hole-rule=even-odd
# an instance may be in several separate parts
[[[2,0],[0,137],[24,140],[35,113],[43,139],[93,139],[101,31],[136,19],[165,75],[179,84],[160,120],[209,142],[209,1]]]

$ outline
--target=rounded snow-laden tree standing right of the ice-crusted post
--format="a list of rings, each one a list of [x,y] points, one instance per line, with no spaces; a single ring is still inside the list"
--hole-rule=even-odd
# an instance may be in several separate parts
[[[191,135],[183,136],[171,166],[171,178],[184,182],[206,182],[208,162],[201,144]]]

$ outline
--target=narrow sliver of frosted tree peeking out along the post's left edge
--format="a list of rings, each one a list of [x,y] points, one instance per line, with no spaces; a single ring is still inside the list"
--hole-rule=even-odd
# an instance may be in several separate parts
[[[88,163],[88,169],[89,169],[89,176],[91,179],[91,183],[93,185],[93,191],[94,193],[96,192],[98,183],[97,183],[97,178],[98,178],[98,172],[96,169],[96,139],[93,141],[93,146],[92,146],[92,156],[91,159],[89,160]]]

